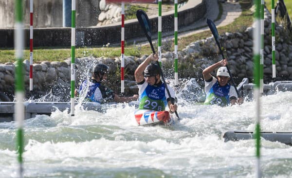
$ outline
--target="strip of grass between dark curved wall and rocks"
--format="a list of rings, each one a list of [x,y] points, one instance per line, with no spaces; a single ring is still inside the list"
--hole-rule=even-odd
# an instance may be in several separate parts
[[[223,34],[225,32],[240,32],[245,30],[247,27],[251,26],[253,23],[253,14],[249,10],[251,7],[252,0],[240,0],[242,14],[239,18],[237,18],[233,23],[218,28],[219,34]],[[187,37],[179,38],[178,46],[179,50],[182,50],[190,44],[191,42],[212,36],[210,31],[205,31],[202,33],[194,34]],[[169,44],[163,44],[169,46],[168,48],[164,48],[163,53],[165,50],[173,51],[174,44],[173,41],[168,41]],[[132,55],[132,56],[140,56],[143,54],[151,53],[151,49],[149,45],[147,46],[133,46],[127,45],[126,41],[126,48],[125,48],[125,55]],[[121,56],[121,49],[120,47],[101,47],[101,48],[90,48],[90,47],[83,47],[83,48],[76,48],[75,56],[86,57],[86,56],[93,56],[93,57],[120,57]],[[56,48],[47,48],[47,49],[34,49],[34,63],[39,63],[41,61],[63,61],[71,57],[71,49],[56,49]],[[24,51],[24,59],[29,59],[29,49]],[[1,49],[0,50],[0,63],[6,62],[14,62],[15,61],[15,51],[13,49]]]

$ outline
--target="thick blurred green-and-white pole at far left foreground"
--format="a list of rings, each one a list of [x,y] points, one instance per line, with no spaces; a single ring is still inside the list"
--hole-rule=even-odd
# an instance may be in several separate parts
[[[17,121],[17,151],[18,151],[18,176],[23,178],[23,159],[22,154],[24,150],[23,141],[23,120],[24,120],[24,80],[23,80],[23,49],[24,49],[24,33],[23,33],[23,2],[22,0],[15,0],[15,54],[17,60],[15,72],[15,119]]]

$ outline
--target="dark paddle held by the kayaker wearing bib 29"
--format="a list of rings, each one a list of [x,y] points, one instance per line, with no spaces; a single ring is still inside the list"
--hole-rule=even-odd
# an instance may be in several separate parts
[[[141,9],[139,9],[136,12],[136,16],[137,16],[137,19],[138,19],[138,21],[139,21],[139,23],[140,23],[140,25],[141,25],[144,33],[145,33],[145,36],[147,37],[147,39],[149,41],[149,44],[150,44],[151,49],[152,49],[152,52],[155,54],[155,50],[154,50],[154,47],[153,47],[153,44],[152,44],[152,40],[151,40],[151,28],[150,28],[149,18],[147,16],[147,14],[143,10],[141,10]],[[156,63],[159,66],[160,75],[161,75],[161,78],[162,78],[162,80],[164,82],[164,86],[165,86],[165,89],[167,91],[167,94],[168,94],[168,96],[170,98],[171,104],[174,105],[174,100],[171,97],[170,92],[169,92],[169,90],[167,88],[167,85],[166,85],[166,82],[164,80],[164,76],[163,76],[163,72],[161,70],[160,64],[159,64],[158,61],[156,61]],[[178,120],[180,120],[180,117],[179,117],[179,114],[178,114],[177,111],[175,111],[175,115],[178,117]]]

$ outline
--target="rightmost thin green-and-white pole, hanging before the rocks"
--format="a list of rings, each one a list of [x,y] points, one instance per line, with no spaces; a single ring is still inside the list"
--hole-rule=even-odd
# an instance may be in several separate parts
[[[275,54],[275,6],[274,0],[272,0],[272,68],[273,68],[273,81],[276,78],[276,54]]]

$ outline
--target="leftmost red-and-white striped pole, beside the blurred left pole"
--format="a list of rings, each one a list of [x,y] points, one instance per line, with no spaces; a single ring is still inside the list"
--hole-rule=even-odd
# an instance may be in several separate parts
[[[30,40],[29,40],[29,47],[30,47],[30,68],[29,68],[29,90],[33,90],[33,62],[34,62],[34,52],[33,52],[33,42],[34,42],[34,0],[30,0]]]

